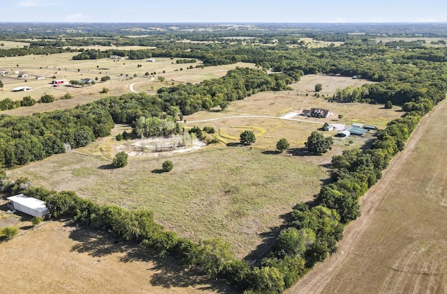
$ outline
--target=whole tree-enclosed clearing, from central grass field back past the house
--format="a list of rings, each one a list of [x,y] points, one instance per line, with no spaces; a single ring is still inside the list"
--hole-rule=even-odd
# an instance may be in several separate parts
[[[116,134],[129,130],[128,126],[117,125],[111,137],[98,139],[74,153],[55,155],[12,169],[8,174],[11,178],[28,177],[36,185],[48,189],[74,190],[98,203],[147,207],[154,210],[157,222],[182,236],[194,240],[220,236],[232,244],[237,257],[256,256],[268,248],[266,234],[283,224],[284,215],[291,212],[296,203],[309,201],[318,192],[321,180],[328,178],[322,165],[329,163],[332,155],[341,153],[346,146],[363,146],[372,139],[372,134],[367,134],[363,138],[352,137],[349,144],[346,140],[335,140],[334,148],[323,156],[302,156],[305,155],[304,142],[313,130],[325,122],[362,121],[384,127],[401,114],[379,105],[337,104],[314,98],[313,88],[318,82],[323,84],[321,94],[325,95],[332,95],[336,88],[349,84],[362,84],[362,81],[346,77],[312,75],[293,84],[291,91],[258,93],[232,102],[226,111],[200,111],[185,116],[187,127],[213,126],[219,139],[230,145],[237,145],[243,130],[252,130],[257,136],[253,150],[214,144],[187,155],[131,156],[124,169],[111,169],[111,159],[117,152],[128,150],[133,155],[138,143],[116,141]],[[339,121],[334,116],[324,119],[296,116],[321,124],[254,117],[188,123],[244,114],[282,116],[311,107],[331,109],[335,117],[343,113],[344,118]],[[325,135],[333,134],[335,132]],[[281,137],[291,143],[289,153],[274,151]],[[174,169],[170,173],[159,173],[166,158],[174,162]]]

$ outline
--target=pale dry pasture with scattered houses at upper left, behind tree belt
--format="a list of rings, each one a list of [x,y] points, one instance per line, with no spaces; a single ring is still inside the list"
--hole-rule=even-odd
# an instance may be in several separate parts
[[[10,98],[11,100],[22,100],[24,96],[31,96],[34,100],[39,100],[42,95],[51,94],[55,101],[48,104],[36,104],[33,107],[20,107],[3,111],[10,115],[27,115],[35,112],[52,111],[55,109],[73,108],[76,105],[82,105],[110,95],[122,95],[131,91],[131,85],[134,91],[154,94],[162,86],[172,86],[179,83],[197,83],[204,79],[223,77],[226,72],[236,66],[253,67],[251,63],[236,63],[233,65],[210,66],[206,68],[192,68],[202,64],[196,63],[177,64],[177,59],[157,58],[155,62],[142,60],[117,60],[112,59],[94,59],[94,60],[72,60],[75,53],[61,53],[50,55],[29,55],[15,56],[0,59],[0,68],[10,71],[5,77],[0,77],[3,82],[3,88],[0,88],[0,100]],[[18,65],[18,66],[17,66]],[[138,65],[141,65],[138,67]],[[182,70],[181,70],[182,69]],[[79,70],[79,71],[78,71]],[[26,73],[29,77],[18,77],[13,72]],[[164,73],[163,73],[164,71]],[[149,75],[145,75],[149,72]],[[156,72],[155,75],[152,75]],[[108,75],[110,81],[101,82],[101,77]],[[137,75],[134,77],[134,75]],[[157,77],[165,77],[165,82],[159,82]],[[45,79],[37,79],[45,77]],[[53,79],[80,80],[93,79],[96,81],[94,86],[73,87],[52,85]],[[20,86],[29,86],[34,91],[17,91],[13,88]],[[101,93],[103,88],[108,88],[108,93]],[[69,93],[73,96],[69,100],[61,98]]]

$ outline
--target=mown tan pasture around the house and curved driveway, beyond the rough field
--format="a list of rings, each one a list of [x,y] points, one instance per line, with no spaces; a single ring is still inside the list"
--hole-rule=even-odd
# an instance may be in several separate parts
[[[291,143],[291,148],[303,148],[310,133],[320,129],[324,123],[342,123],[344,125],[367,123],[376,125],[379,128],[385,128],[386,123],[402,115],[400,107],[384,109],[383,105],[332,103],[325,98],[316,98],[314,96],[315,84],[323,85],[323,90],[319,92],[319,95],[321,97],[325,95],[328,98],[332,97],[337,88],[345,88],[350,85],[357,87],[366,82],[365,80],[351,79],[350,77],[307,75],[302,77],[300,82],[292,84],[291,87],[293,89],[291,91],[257,93],[244,100],[231,102],[225,111],[219,111],[218,109],[214,109],[214,111],[199,111],[191,116],[185,116],[185,125],[186,127],[192,127],[193,125],[199,127],[212,126],[219,133],[219,139],[226,144],[237,142],[243,130],[251,130],[256,134],[254,148],[266,150],[274,150],[277,141],[283,137]],[[311,108],[329,109],[334,114],[329,118],[307,118],[300,115],[303,109]],[[291,118],[300,121],[276,119],[290,113],[297,114],[291,116]],[[338,118],[339,114],[342,114],[342,119]],[[247,116],[270,116],[271,118]],[[325,132],[324,134],[333,136],[336,132]],[[365,137],[368,137],[368,135]],[[361,145],[365,141],[354,136],[351,139],[356,146]],[[343,146],[345,143],[345,141],[337,141],[337,144],[342,144]],[[331,157],[335,152],[341,151],[333,150],[328,156]],[[328,158],[323,158],[323,161],[328,161]],[[315,160],[315,158],[313,159]],[[316,160],[321,160],[321,157],[318,157]]]

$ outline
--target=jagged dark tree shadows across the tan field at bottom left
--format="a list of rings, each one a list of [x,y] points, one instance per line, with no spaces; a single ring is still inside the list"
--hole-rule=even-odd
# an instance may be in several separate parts
[[[119,261],[123,263],[147,262],[149,263],[147,270],[153,272],[148,274],[149,284],[152,286],[161,286],[166,289],[193,286],[199,291],[238,293],[224,280],[210,279],[195,268],[182,268],[172,256],[157,256],[153,250],[135,242],[126,242],[111,233],[84,226],[71,224],[66,226],[72,229],[70,238],[77,241],[77,244],[71,248],[72,252],[87,253],[95,258],[122,253],[124,256],[119,258]]]

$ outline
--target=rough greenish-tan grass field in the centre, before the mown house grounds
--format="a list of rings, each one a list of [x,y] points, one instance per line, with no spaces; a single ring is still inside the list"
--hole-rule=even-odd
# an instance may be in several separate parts
[[[80,150],[82,152],[82,149]],[[174,162],[170,173],[161,163]],[[328,173],[286,154],[220,148],[188,155],[131,160],[123,169],[78,153],[57,155],[10,171],[48,189],[71,189],[97,203],[145,207],[179,235],[221,237],[242,258],[261,245],[281,215],[318,192]]]

